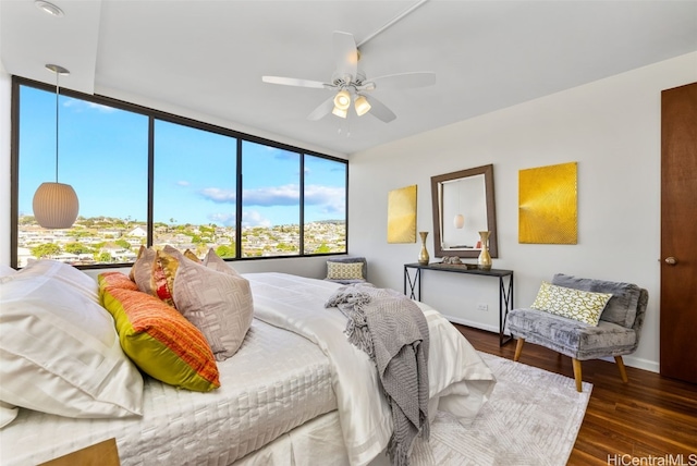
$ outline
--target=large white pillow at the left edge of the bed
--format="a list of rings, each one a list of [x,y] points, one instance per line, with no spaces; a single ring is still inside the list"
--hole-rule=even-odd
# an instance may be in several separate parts
[[[50,262],[0,285],[0,401],[76,418],[140,415],[143,377],[94,301],[96,282]]]

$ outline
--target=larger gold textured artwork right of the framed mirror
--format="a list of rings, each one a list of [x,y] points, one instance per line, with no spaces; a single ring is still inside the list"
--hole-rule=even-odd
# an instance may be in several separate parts
[[[518,172],[518,243],[577,243],[576,172],[576,162]]]

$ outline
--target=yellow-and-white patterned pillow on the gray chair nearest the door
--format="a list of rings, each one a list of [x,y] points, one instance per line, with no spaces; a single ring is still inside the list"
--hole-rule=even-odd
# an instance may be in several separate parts
[[[597,326],[611,297],[611,293],[586,292],[542,282],[530,307]]]

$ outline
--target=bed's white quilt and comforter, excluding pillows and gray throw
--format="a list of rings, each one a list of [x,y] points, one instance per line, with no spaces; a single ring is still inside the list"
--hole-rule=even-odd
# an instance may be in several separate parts
[[[144,377],[143,416],[78,419],[21,408],[0,429],[0,463],[34,465],[115,438],[122,465],[345,464],[384,459],[392,429],[375,366],[351,345],[345,317],[325,308],[341,285],[248,273],[254,320],[218,363],[220,388],[180,390]],[[473,419],[496,379],[438,311],[430,332],[429,414]],[[1,383],[1,381],[0,381]]]

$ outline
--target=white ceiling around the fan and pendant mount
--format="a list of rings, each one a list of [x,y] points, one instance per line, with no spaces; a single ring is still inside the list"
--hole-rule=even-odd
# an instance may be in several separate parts
[[[433,71],[433,87],[372,95],[398,118],[307,114],[327,89],[262,75],[329,82],[332,32],[362,42],[413,1],[0,0],[0,57],[10,74],[191,109],[351,155],[697,50],[697,1],[424,2],[362,46],[370,76]],[[697,66],[697,63],[695,64]],[[341,130],[341,131],[340,131]]]

